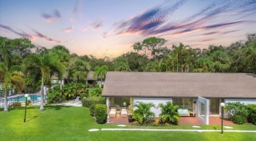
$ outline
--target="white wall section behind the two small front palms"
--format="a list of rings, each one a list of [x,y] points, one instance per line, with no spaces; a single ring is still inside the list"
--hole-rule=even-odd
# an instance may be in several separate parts
[[[133,97],[133,105],[139,104],[139,102],[149,103],[152,102],[156,108],[151,108],[150,110],[155,113],[156,117],[159,117],[159,114],[161,114],[161,108],[158,108],[158,105],[160,103],[166,104],[167,101],[171,101],[171,98],[156,98],[156,97]],[[136,110],[136,107],[133,108],[133,110]]]

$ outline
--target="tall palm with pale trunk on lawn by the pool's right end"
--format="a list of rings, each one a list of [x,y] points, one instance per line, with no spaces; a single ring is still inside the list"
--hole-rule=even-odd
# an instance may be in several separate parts
[[[51,85],[51,77],[56,75],[59,76],[62,73],[62,65],[60,61],[51,54],[40,55],[29,55],[24,59],[24,69],[28,77],[41,76],[41,105],[40,110],[44,110],[43,97],[44,97],[44,85]],[[35,71],[37,70],[37,71]],[[39,71],[38,71],[39,70]]]

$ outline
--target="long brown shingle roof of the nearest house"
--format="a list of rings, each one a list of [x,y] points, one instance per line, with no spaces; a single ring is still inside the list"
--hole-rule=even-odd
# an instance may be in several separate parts
[[[256,99],[256,75],[245,73],[108,72],[102,96]]]

